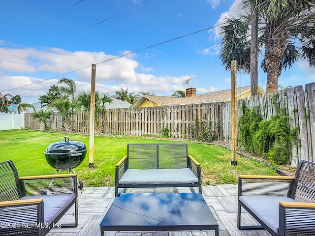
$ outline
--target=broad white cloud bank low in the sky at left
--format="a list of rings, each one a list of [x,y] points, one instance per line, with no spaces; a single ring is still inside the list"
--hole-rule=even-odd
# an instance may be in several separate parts
[[[154,68],[140,65],[134,59],[116,57],[103,52],[69,52],[58,48],[41,50],[0,48],[1,91],[13,89],[5,93],[19,94],[24,103],[34,103],[63,77],[73,79],[77,91],[91,90],[92,63],[96,64],[95,89],[99,92],[113,95],[115,90],[124,88],[135,94],[141,91],[171,94],[176,90],[183,90],[181,77],[156,77],[150,74]],[[143,72],[137,73],[137,68]],[[21,86],[26,87],[14,89]]]

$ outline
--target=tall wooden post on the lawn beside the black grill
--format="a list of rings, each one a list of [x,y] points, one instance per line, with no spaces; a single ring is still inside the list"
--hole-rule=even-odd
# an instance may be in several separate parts
[[[94,169],[95,74],[96,64],[92,64],[89,147],[89,168],[91,169]]]

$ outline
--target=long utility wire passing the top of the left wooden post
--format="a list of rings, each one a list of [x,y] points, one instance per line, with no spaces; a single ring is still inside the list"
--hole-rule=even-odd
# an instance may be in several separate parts
[[[173,38],[173,39],[169,39],[169,40],[166,40],[166,41],[164,41],[164,42],[157,43],[157,44],[151,45],[151,46],[146,47],[146,48],[138,49],[138,50],[136,50],[136,51],[133,51],[133,52],[130,52],[130,53],[126,53],[126,54],[121,55],[121,56],[117,56],[117,57],[114,57],[114,58],[111,58],[111,59],[107,59],[107,60],[103,60],[103,61],[97,62],[96,64],[101,64],[101,63],[104,63],[104,62],[107,62],[107,61],[111,61],[111,60],[114,60],[114,59],[122,58],[122,57],[128,56],[128,55],[130,55],[130,54],[134,54],[134,53],[137,53],[137,52],[140,52],[140,51],[149,49],[149,48],[153,48],[153,47],[156,47],[156,46],[158,46],[158,45],[165,44],[165,43],[169,43],[169,42],[171,42],[171,41],[174,41],[174,40],[177,40],[177,39],[180,39],[180,38],[184,38],[184,37],[190,36],[190,35],[195,34],[195,33],[200,33],[200,32],[205,31],[205,30],[213,29],[213,28],[219,27],[219,26],[221,26],[221,25],[223,25],[223,24],[216,25],[216,26],[212,26],[212,27],[208,27],[208,28],[206,28],[206,29],[201,29],[201,30],[198,30],[198,31],[194,31],[194,32],[192,32],[192,33],[188,33],[188,34],[185,34],[185,35],[182,35],[182,36]],[[57,76],[54,76],[54,77],[51,77],[51,78],[48,78],[48,79],[45,79],[45,80],[41,80],[41,81],[32,83],[32,84],[28,84],[28,85],[16,87],[16,88],[13,88],[13,89],[7,89],[7,90],[3,90],[3,91],[0,91],[0,92],[10,91],[10,90],[14,90],[14,89],[21,89],[21,88],[24,88],[24,87],[27,87],[27,86],[30,86],[30,85],[34,85],[34,84],[41,83],[41,82],[43,82],[43,81],[55,79],[55,78],[61,77],[61,76],[63,76],[63,75],[67,75],[67,74],[70,74],[70,73],[73,73],[73,72],[76,72],[76,71],[79,71],[79,70],[83,70],[83,69],[89,68],[89,67],[91,67],[91,66],[92,66],[92,65],[85,66],[85,67],[83,67],[83,68],[76,69],[76,70],[72,70],[72,71],[66,72],[66,73],[64,73],[64,74],[57,75]]]

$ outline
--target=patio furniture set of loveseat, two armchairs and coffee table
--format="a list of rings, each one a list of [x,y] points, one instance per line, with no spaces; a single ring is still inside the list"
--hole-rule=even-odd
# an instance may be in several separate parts
[[[314,167],[301,161],[295,177],[239,176],[237,227],[263,228],[272,236],[314,236]],[[0,163],[0,235],[44,236],[55,227],[77,227],[77,183],[76,174],[19,177],[12,161]],[[179,186],[191,192],[125,193],[126,188]],[[59,224],[73,207],[74,223]],[[243,214],[260,225],[241,225]],[[219,235],[201,194],[200,164],[188,154],[187,144],[127,146],[116,165],[115,199],[100,222],[101,236],[122,230],[215,230]]]

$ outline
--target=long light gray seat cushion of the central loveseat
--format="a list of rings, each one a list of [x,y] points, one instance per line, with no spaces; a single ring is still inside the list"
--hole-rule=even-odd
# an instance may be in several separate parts
[[[128,169],[120,178],[120,184],[175,184],[196,183],[198,178],[189,168],[181,169]]]

